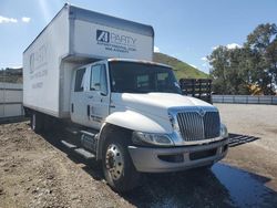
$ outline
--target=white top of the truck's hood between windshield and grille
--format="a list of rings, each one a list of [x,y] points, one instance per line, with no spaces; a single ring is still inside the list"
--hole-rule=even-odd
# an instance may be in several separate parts
[[[132,110],[168,119],[168,108],[172,107],[214,107],[198,98],[173,93],[114,93],[112,104],[117,108]]]

